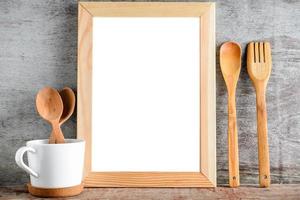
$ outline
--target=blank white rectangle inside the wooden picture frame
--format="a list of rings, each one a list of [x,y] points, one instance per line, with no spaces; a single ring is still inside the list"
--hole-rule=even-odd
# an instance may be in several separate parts
[[[200,171],[200,21],[94,17],[92,171]]]

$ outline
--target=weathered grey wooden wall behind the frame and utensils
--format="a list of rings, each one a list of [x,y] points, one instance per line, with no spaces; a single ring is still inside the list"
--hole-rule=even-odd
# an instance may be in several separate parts
[[[268,86],[273,183],[300,183],[300,1],[218,0],[217,49],[227,40],[268,40],[273,71]],[[245,51],[244,51],[245,52]],[[218,55],[218,53],[217,53]],[[25,141],[50,127],[35,110],[36,92],[50,85],[76,90],[77,1],[0,0],[0,186],[28,176],[14,163]],[[227,183],[227,94],[217,61],[218,183]],[[242,184],[257,184],[255,95],[245,67],[237,89]],[[63,126],[75,137],[76,119]]]

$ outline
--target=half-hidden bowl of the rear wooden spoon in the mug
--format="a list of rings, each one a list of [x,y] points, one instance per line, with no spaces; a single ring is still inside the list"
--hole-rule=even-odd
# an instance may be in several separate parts
[[[75,100],[75,94],[73,90],[69,87],[65,87],[64,89],[62,89],[59,92],[59,94],[62,98],[63,105],[64,105],[63,113],[62,116],[60,117],[59,123],[63,124],[73,114],[76,100]]]

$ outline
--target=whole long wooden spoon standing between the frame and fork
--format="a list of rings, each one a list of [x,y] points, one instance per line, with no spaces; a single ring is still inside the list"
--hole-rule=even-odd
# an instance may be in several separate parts
[[[240,175],[235,91],[241,71],[241,47],[239,44],[226,42],[221,46],[220,65],[228,91],[229,186],[238,187],[240,185]]]

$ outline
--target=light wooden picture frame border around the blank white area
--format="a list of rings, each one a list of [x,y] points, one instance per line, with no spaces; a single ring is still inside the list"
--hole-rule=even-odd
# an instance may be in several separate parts
[[[200,172],[92,172],[93,17],[200,18]],[[77,137],[86,141],[86,187],[215,187],[215,4],[198,2],[79,2]]]

